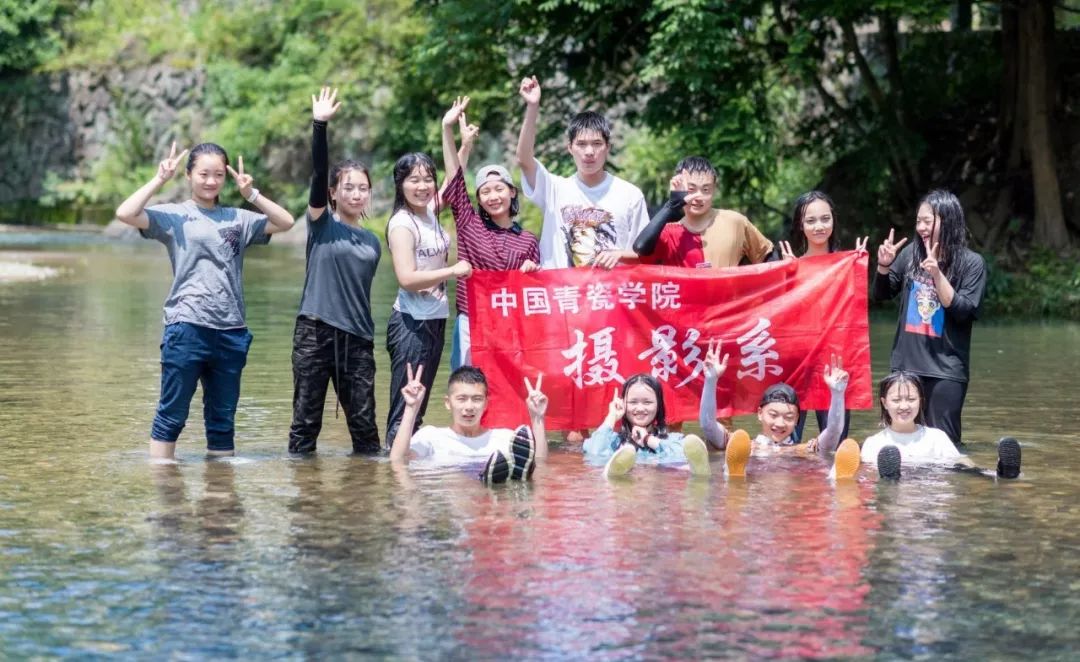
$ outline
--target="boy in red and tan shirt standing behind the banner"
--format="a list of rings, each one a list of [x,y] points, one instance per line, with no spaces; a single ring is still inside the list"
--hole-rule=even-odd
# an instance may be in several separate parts
[[[643,264],[707,269],[765,261],[772,242],[742,214],[713,207],[716,178],[704,157],[678,162],[671,198],[634,242]]]

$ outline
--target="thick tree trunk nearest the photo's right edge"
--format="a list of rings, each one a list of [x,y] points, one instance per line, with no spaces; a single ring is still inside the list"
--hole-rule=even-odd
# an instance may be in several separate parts
[[[1057,181],[1053,138],[1053,80],[1050,53],[1054,43],[1053,0],[1028,0],[1020,5],[1020,45],[1026,51],[1026,76],[1020,93],[1027,109],[1026,147],[1035,192],[1035,243],[1061,251],[1069,234]]]

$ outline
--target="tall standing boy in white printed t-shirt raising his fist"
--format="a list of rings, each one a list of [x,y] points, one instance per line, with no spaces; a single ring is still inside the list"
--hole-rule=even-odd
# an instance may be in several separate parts
[[[540,83],[522,80],[525,121],[517,138],[522,190],[543,212],[540,264],[544,269],[603,267],[622,258],[636,258],[638,232],[649,222],[642,190],[607,172],[611,124],[596,112],[579,112],[567,127],[566,149],[573,157],[572,177],[549,173],[534,156]]]

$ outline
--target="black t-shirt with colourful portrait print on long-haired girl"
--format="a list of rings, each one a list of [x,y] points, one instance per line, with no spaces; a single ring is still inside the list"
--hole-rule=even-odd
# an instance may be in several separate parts
[[[890,365],[893,370],[968,381],[971,325],[978,318],[986,294],[986,262],[974,251],[963,249],[949,278],[956,295],[953,305],[945,308],[929,273],[923,271],[915,278],[908,274],[914,256],[912,244],[900,252],[888,275],[874,276],[875,299],[902,295]]]

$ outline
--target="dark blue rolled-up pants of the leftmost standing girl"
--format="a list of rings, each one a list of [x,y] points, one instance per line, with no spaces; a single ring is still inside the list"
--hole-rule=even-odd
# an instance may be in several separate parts
[[[195,384],[202,382],[206,448],[232,450],[240,374],[251,346],[246,328],[219,330],[187,322],[166,326],[161,339],[161,400],[150,437],[175,442],[180,436]]]

